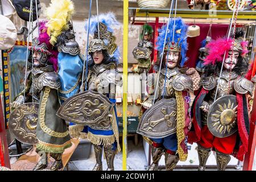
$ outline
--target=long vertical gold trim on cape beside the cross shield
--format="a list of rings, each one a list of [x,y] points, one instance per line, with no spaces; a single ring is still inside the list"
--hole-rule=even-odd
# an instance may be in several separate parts
[[[185,107],[182,92],[175,90],[175,97],[177,101],[177,152],[181,161],[187,160],[188,154],[185,154],[180,146],[180,143],[185,139]]]

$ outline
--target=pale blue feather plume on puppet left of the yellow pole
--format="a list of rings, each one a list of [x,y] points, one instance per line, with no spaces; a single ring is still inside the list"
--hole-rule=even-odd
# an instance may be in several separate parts
[[[112,32],[112,34],[113,34],[114,28],[121,26],[121,24],[115,18],[114,13],[112,12],[109,12],[106,14],[100,14],[98,15],[98,18],[97,18],[97,15],[94,15],[90,18],[89,35],[94,35],[94,32],[98,31],[98,22],[104,23],[106,27],[108,27],[107,30]],[[89,25],[89,20],[87,19],[85,22],[85,32],[87,32],[88,25]],[[104,39],[103,41],[105,45],[109,44],[108,40]],[[117,48],[113,53],[113,55],[109,55],[109,56],[110,56],[110,61],[118,63],[118,59],[120,57],[119,49]]]

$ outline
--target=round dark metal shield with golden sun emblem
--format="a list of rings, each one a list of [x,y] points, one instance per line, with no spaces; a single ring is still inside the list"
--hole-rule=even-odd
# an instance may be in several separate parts
[[[237,98],[226,95],[210,106],[207,125],[215,137],[224,138],[237,131]]]

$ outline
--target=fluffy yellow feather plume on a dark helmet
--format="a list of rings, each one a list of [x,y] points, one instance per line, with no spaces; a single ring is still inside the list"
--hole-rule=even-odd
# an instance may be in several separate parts
[[[54,46],[57,36],[67,28],[67,23],[74,13],[74,5],[71,0],[52,0],[46,9],[48,32],[51,39],[49,42]]]

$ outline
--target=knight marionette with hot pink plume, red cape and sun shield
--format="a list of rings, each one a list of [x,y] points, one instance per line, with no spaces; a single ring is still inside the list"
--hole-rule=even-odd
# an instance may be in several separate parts
[[[253,83],[243,77],[248,68],[247,42],[237,35],[212,40],[207,45],[205,76],[192,105],[193,125],[188,137],[189,143],[197,143],[199,170],[205,169],[211,150],[216,152],[217,169],[221,171],[228,165],[230,155],[242,161],[247,151],[247,95],[253,93]]]

